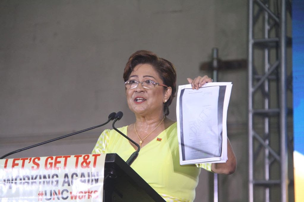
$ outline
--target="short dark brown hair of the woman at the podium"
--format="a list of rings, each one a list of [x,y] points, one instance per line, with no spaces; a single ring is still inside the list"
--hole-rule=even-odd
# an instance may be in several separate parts
[[[147,50],[136,51],[130,56],[123,72],[123,80],[125,82],[129,79],[131,72],[138,64],[152,65],[163,81],[163,84],[172,88],[171,96],[164,103],[164,114],[169,115],[169,106],[176,92],[176,70],[174,65],[166,59],[159,58],[154,52]]]

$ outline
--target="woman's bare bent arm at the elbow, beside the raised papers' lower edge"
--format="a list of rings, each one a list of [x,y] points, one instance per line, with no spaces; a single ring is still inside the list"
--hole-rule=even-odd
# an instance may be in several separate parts
[[[212,163],[211,170],[212,172],[219,173],[219,174],[226,174],[230,175],[234,173],[237,168],[237,159],[234,155],[232,146],[230,141],[227,137],[227,157],[228,160],[225,163]]]

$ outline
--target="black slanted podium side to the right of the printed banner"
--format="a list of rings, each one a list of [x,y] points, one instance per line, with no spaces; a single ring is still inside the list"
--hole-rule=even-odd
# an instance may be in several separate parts
[[[103,201],[165,201],[116,153],[106,154]]]

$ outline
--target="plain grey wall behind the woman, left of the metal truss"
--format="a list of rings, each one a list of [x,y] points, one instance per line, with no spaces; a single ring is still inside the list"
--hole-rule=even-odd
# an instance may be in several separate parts
[[[0,1],[0,155],[98,125],[123,111],[123,68],[139,49],[173,62],[178,85],[211,59],[247,58],[247,1]],[[219,201],[247,201],[247,72],[219,72],[233,82],[228,136],[238,168],[219,176]],[[175,120],[175,103],[169,117]],[[110,127],[110,126],[107,126]],[[13,157],[91,153],[107,127]],[[209,201],[202,171],[195,201]]]

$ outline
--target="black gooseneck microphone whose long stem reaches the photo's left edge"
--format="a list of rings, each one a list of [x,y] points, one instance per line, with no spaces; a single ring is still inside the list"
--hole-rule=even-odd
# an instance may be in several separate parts
[[[122,117],[122,115],[121,115],[121,117]],[[100,125],[98,125],[98,126],[93,126],[93,127],[91,127],[91,128],[87,128],[87,129],[85,129],[85,130],[80,130],[80,131],[75,132],[75,133],[70,133],[70,134],[67,134],[67,135],[64,135],[64,136],[60,136],[60,137],[54,138],[54,139],[52,139],[52,140],[47,140],[47,141],[45,141],[45,142],[41,142],[41,143],[38,143],[38,144],[34,144],[34,145],[32,145],[32,146],[24,147],[24,148],[19,149],[19,150],[12,151],[12,152],[10,152],[10,153],[7,153],[7,154],[3,155],[2,157],[0,157],[0,159],[3,159],[3,158],[5,158],[5,157],[7,157],[7,156],[9,156],[9,155],[14,154],[14,153],[18,153],[18,152],[21,152],[21,151],[24,151],[24,150],[28,150],[28,149],[33,148],[33,147],[36,147],[36,146],[40,146],[40,145],[43,145],[43,144],[46,144],[46,143],[53,142],[53,141],[55,141],[55,140],[60,140],[60,139],[63,139],[63,138],[66,138],[66,137],[69,137],[69,136],[72,136],[72,135],[76,135],[76,134],[78,134],[78,133],[82,133],[82,132],[85,132],[85,131],[88,131],[88,130],[92,130],[92,129],[98,128],[98,127],[100,127],[100,126],[104,126],[105,124],[109,123],[110,121],[114,120],[115,118],[116,118],[116,113],[115,113],[115,112],[112,112],[112,113],[109,114],[108,120],[107,120],[105,123],[103,123],[103,124],[100,124]]]

